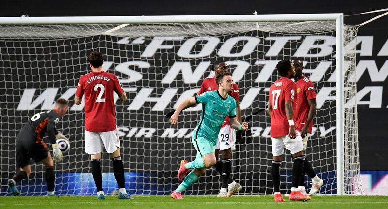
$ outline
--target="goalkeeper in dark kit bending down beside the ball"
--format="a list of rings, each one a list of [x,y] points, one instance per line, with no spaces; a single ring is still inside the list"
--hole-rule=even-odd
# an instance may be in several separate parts
[[[19,196],[20,192],[16,189],[16,184],[21,180],[26,179],[31,173],[30,158],[35,162],[40,162],[46,166],[46,183],[47,183],[47,195],[54,195],[54,162],[51,158],[50,151],[47,149],[47,145],[43,142],[43,136],[45,133],[49,136],[51,143],[54,161],[56,163],[61,162],[62,152],[59,149],[59,145],[56,143],[56,139],[65,138],[56,129],[55,125],[59,122],[59,119],[66,114],[69,109],[69,102],[65,99],[59,98],[55,102],[53,110],[37,113],[23,126],[22,130],[16,138],[16,165],[20,167],[20,171],[17,171],[12,179],[8,180],[8,187],[14,196]]]

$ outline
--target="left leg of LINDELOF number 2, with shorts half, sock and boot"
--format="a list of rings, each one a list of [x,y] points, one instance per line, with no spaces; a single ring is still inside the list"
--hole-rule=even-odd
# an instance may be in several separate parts
[[[97,199],[105,199],[104,190],[102,189],[101,146],[101,138],[98,132],[85,130],[85,152],[90,154],[93,180],[97,188]]]

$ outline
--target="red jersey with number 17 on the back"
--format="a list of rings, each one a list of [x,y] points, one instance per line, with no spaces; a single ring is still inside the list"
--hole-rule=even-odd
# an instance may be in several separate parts
[[[288,135],[290,126],[286,116],[286,101],[294,102],[296,85],[291,79],[281,77],[270,87],[269,102],[272,106],[271,137]]]

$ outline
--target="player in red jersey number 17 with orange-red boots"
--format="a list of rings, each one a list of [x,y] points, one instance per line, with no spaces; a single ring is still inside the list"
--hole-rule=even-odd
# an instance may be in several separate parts
[[[284,148],[291,151],[294,163],[292,165],[292,188],[290,200],[307,201],[310,197],[302,194],[298,184],[303,173],[305,156],[303,154],[302,137],[295,130],[293,120],[293,102],[295,100],[296,85],[291,80],[295,76],[295,69],[290,60],[279,61],[276,65],[280,79],[270,87],[268,115],[271,116],[271,145],[272,166],[271,177],[274,187],[275,202],[285,201],[280,193],[280,165]]]

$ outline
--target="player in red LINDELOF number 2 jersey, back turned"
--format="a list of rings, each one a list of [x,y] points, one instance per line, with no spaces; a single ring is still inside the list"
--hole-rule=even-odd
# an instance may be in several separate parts
[[[88,56],[88,62],[92,72],[81,76],[74,101],[77,105],[81,104],[82,96],[85,95],[85,152],[90,154],[92,159],[97,199],[105,199],[100,166],[102,144],[111,155],[114,177],[119,187],[119,199],[132,199],[124,185],[124,167],[120,156],[113,92],[116,92],[122,101],[127,100],[127,95],[116,75],[102,70],[104,60],[101,53],[93,51]]]

